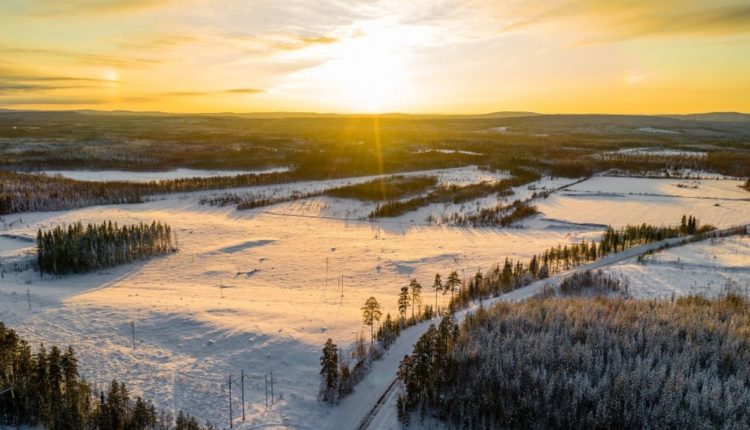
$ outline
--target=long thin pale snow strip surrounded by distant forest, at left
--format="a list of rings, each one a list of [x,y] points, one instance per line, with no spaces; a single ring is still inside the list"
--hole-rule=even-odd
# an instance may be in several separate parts
[[[247,174],[286,172],[288,167],[274,167],[262,170],[197,170],[197,169],[174,169],[165,172],[136,172],[125,170],[43,170],[49,176],[60,175],[78,181],[128,181],[128,182],[150,182],[168,179],[184,178],[211,178],[217,176],[236,176]]]

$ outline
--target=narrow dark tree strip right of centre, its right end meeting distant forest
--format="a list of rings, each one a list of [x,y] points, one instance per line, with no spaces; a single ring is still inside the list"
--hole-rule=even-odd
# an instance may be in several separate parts
[[[425,196],[414,197],[409,200],[391,200],[379,204],[372,212],[370,212],[369,217],[397,217],[434,203],[458,204],[493,194],[510,196],[513,195],[513,187],[527,184],[541,178],[541,175],[537,172],[526,169],[514,169],[511,173],[513,174],[512,178],[501,179],[495,182],[481,182],[466,186],[441,186]]]

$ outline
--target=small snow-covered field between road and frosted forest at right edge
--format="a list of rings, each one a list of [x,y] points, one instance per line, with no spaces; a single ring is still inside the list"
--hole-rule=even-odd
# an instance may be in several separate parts
[[[750,293],[750,236],[711,239],[631,259],[605,269],[636,298]]]

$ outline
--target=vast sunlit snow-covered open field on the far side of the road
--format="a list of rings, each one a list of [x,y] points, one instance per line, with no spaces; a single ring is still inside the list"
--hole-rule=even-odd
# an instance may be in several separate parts
[[[437,174],[441,182],[459,184],[504,177],[476,168],[413,174]],[[273,194],[364,180],[232,191]],[[556,189],[572,182],[545,178],[535,186]],[[682,182],[690,187],[674,185]],[[359,334],[360,306],[367,297],[375,296],[384,311],[395,314],[399,288],[417,278],[425,285],[425,303],[432,303],[429,285],[436,272],[470,275],[506,256],[528,258],[558,243],[598,237],[599,227],[576,223],[669,224],[683,213],[717,226],[747,222],[750,202],[743,199],[750,193],[735,188],[732,181],[593,178],[541,200],[542,215],[508,229],[424,225],[429,214],[491,207],[495,197],[463,208],[432,205],[377,222],[358,219],[368,212],[366,205],[346,199],[306,199],[251,211],[198,203],[220,191],[19,214],[0,232],[8,235],[0,236],[6,270],[0,280],[0,320],[34,342],[72,344],[91,381],[103,384],[116,377],[161,407],[186,410],[220,426],[227,423],[227,379],[244,370],[248,427],[340,428],[340,413],[316,400],[320,349],[328,337],[348,346]],[[519,187],[510,200],[533,191]],[[41,279],[28,270],[7,271],[6,263],[32,258],[27,254],[33,243],[18,236],[33,238],[38,228],[105,219],[166,222],[178,232],[180,251],[81,276]],[[742,258],[748,261],[747,254]],[[266,409],[268,372],[277,398]],[[239,390],[233,396],[238,417]]]

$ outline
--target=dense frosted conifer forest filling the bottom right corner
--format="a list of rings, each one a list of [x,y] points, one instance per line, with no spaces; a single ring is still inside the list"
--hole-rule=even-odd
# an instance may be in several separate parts
[[[431,326],[399,370],[407,424],[451,427],[750,426],[750,306],[544,299]]]

